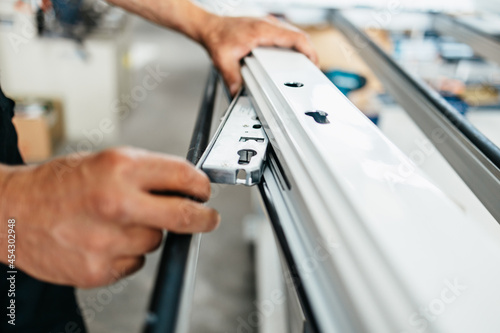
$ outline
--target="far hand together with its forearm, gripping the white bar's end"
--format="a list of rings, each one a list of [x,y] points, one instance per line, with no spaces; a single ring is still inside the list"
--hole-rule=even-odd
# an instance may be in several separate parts
[[[305,33],[272,16],[260,19],[219,16],[185,0],[107,1],[204,45],[233,95],[242,83],[240,60],[257,46],[293,48],[313,62],[318,61]]]

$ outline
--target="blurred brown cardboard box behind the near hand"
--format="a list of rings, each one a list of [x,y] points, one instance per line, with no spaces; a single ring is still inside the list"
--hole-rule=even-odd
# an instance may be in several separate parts
[[[16,99],[12,122],[18,134],[18,146],[26,163],[52,157],[55,146],[63,139],[61,103],[46,99]]]

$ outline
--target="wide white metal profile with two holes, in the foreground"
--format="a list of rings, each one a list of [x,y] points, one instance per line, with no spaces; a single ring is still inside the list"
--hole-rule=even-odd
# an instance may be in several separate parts
[[[418,168],[400,174],[412,162],[305,56],[259,48],[242,74],[274,151],[261,193],[315,331],[500,330],[485,311],[498,242]],[[425,317],[453,284],[470,292]]]

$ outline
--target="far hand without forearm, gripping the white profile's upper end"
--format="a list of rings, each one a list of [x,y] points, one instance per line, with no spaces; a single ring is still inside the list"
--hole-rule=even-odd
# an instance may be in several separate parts
[[[317,64],[309,37],[276,18],[213,16],[203,29],[202,43],[234,95],[241,87],[240,60],[257,46],[293,48]]]

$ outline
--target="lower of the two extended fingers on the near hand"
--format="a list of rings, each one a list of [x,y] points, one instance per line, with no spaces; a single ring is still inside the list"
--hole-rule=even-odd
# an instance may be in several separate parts
[[[220,223],[216,210],[180,197],[140,194],[130,210],[133,222],[177,233],[214,230]]]

